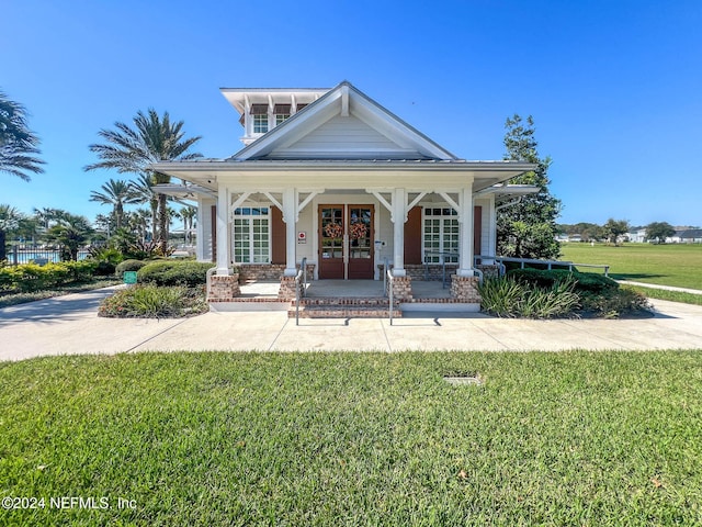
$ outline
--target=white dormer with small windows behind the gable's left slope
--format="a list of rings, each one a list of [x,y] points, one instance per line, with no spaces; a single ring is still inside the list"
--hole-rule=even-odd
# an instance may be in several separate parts
[[[241,143],[249,145],[315,102],[328,88],[222,88],[222,94],[241,115]]]

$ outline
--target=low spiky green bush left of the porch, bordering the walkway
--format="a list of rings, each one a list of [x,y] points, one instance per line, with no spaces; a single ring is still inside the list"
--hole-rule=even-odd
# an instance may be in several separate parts
[[[100,304],[105,317],[180,317],[207,311],[204,290],[182,285],[138,284],[117,291]]]

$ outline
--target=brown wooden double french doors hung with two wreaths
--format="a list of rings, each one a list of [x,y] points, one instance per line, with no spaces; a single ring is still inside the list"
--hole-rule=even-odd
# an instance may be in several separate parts
[[[319,278],[373,279],[373,205],[319,205]]]

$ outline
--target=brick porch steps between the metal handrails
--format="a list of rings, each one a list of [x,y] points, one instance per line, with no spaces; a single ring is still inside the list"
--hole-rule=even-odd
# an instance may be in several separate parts
[[[295,318],[295,301],[291,302],[287,316]],[[385,298],[302,299],[299,316],[303,318],[387,318],[389,301]],[[397,303],[393,317],[401,317]]]

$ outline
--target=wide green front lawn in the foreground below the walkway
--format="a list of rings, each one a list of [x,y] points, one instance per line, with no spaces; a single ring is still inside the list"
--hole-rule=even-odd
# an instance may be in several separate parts
[[[699,525],[700,351],[4,362],[0,525]]]

